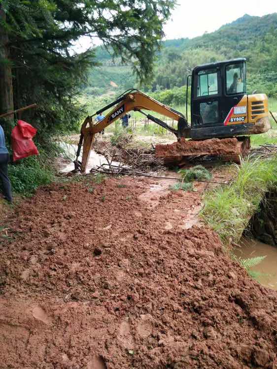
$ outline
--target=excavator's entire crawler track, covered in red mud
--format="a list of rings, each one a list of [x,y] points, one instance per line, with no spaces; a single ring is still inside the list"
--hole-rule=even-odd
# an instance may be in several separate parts
[[[249,137],[211,138],[202,141],[182,137],[173,144],[156,145],[156,157],[164,159],[165,164],[180,164],[185,159],[209,155],[240,164],[249,150]]]

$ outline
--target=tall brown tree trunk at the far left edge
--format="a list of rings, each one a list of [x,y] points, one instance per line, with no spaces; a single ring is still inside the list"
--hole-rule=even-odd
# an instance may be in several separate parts
[[[4,24],[6,14],[3,5],[0,4],[0,24]],[[0,26],[0,114],[12,111],[13,109],[13,88],[11,62],[9,61],[8,35],[6,30]],[[6,129],[11,129],[13,116],[6,121]],[[9,133],[9,132],[7,132]]]

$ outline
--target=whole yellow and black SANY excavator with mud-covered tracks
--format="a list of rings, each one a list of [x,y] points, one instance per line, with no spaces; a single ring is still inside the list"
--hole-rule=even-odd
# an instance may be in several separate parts
[[[156,146],[156,156],[181,159],[188,155],[229,155],[240,157],[250,148],[248,135],[270,129],[266,94],[246,94],[244,58],[197,66],[187,78],[186,117],[136,89],[128,90],[115,101],[88,116],[81,127],[75,170],[86,171],[95,135],[130,111],[168,129],[176,143]],[[188,85],[191,78],[191,123],[187,119]],[[93,117],[111,109],[100,122]],[[177,129],[145,113],[153,111],[177,122]],[[246,137],[245,137],[246,135]],[[189,139],[189,140],[188,140]],[[78,157],[82,150],[82,159]],[[236,161],[236,160],[235,160]]]

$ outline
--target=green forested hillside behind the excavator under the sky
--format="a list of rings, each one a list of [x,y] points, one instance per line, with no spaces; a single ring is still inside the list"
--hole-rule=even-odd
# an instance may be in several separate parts
[[[102,66],[90,73],[87,93],[100,95],[138,87],[130,66],[122,66],[101,47],[96,49],[96,55]],[[237,57],[247,59],[248,92],[257,90],[277,97],[277,13],[263,17],[245,14],[212,33],[163,41],[156,53],[153,79],[140,88],[155,94],[174,89],[180,95],[182,89],[177,88],[186,84],[194,66]],[[162,95],[168,97],[167,93]],[[178,100],[176,96],[174,99]]]

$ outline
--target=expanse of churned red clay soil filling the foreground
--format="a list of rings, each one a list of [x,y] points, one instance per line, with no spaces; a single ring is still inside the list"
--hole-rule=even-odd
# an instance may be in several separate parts
[[[1,369],[277,368],[277,292],[149,185],[53,184],[6,219]]]

